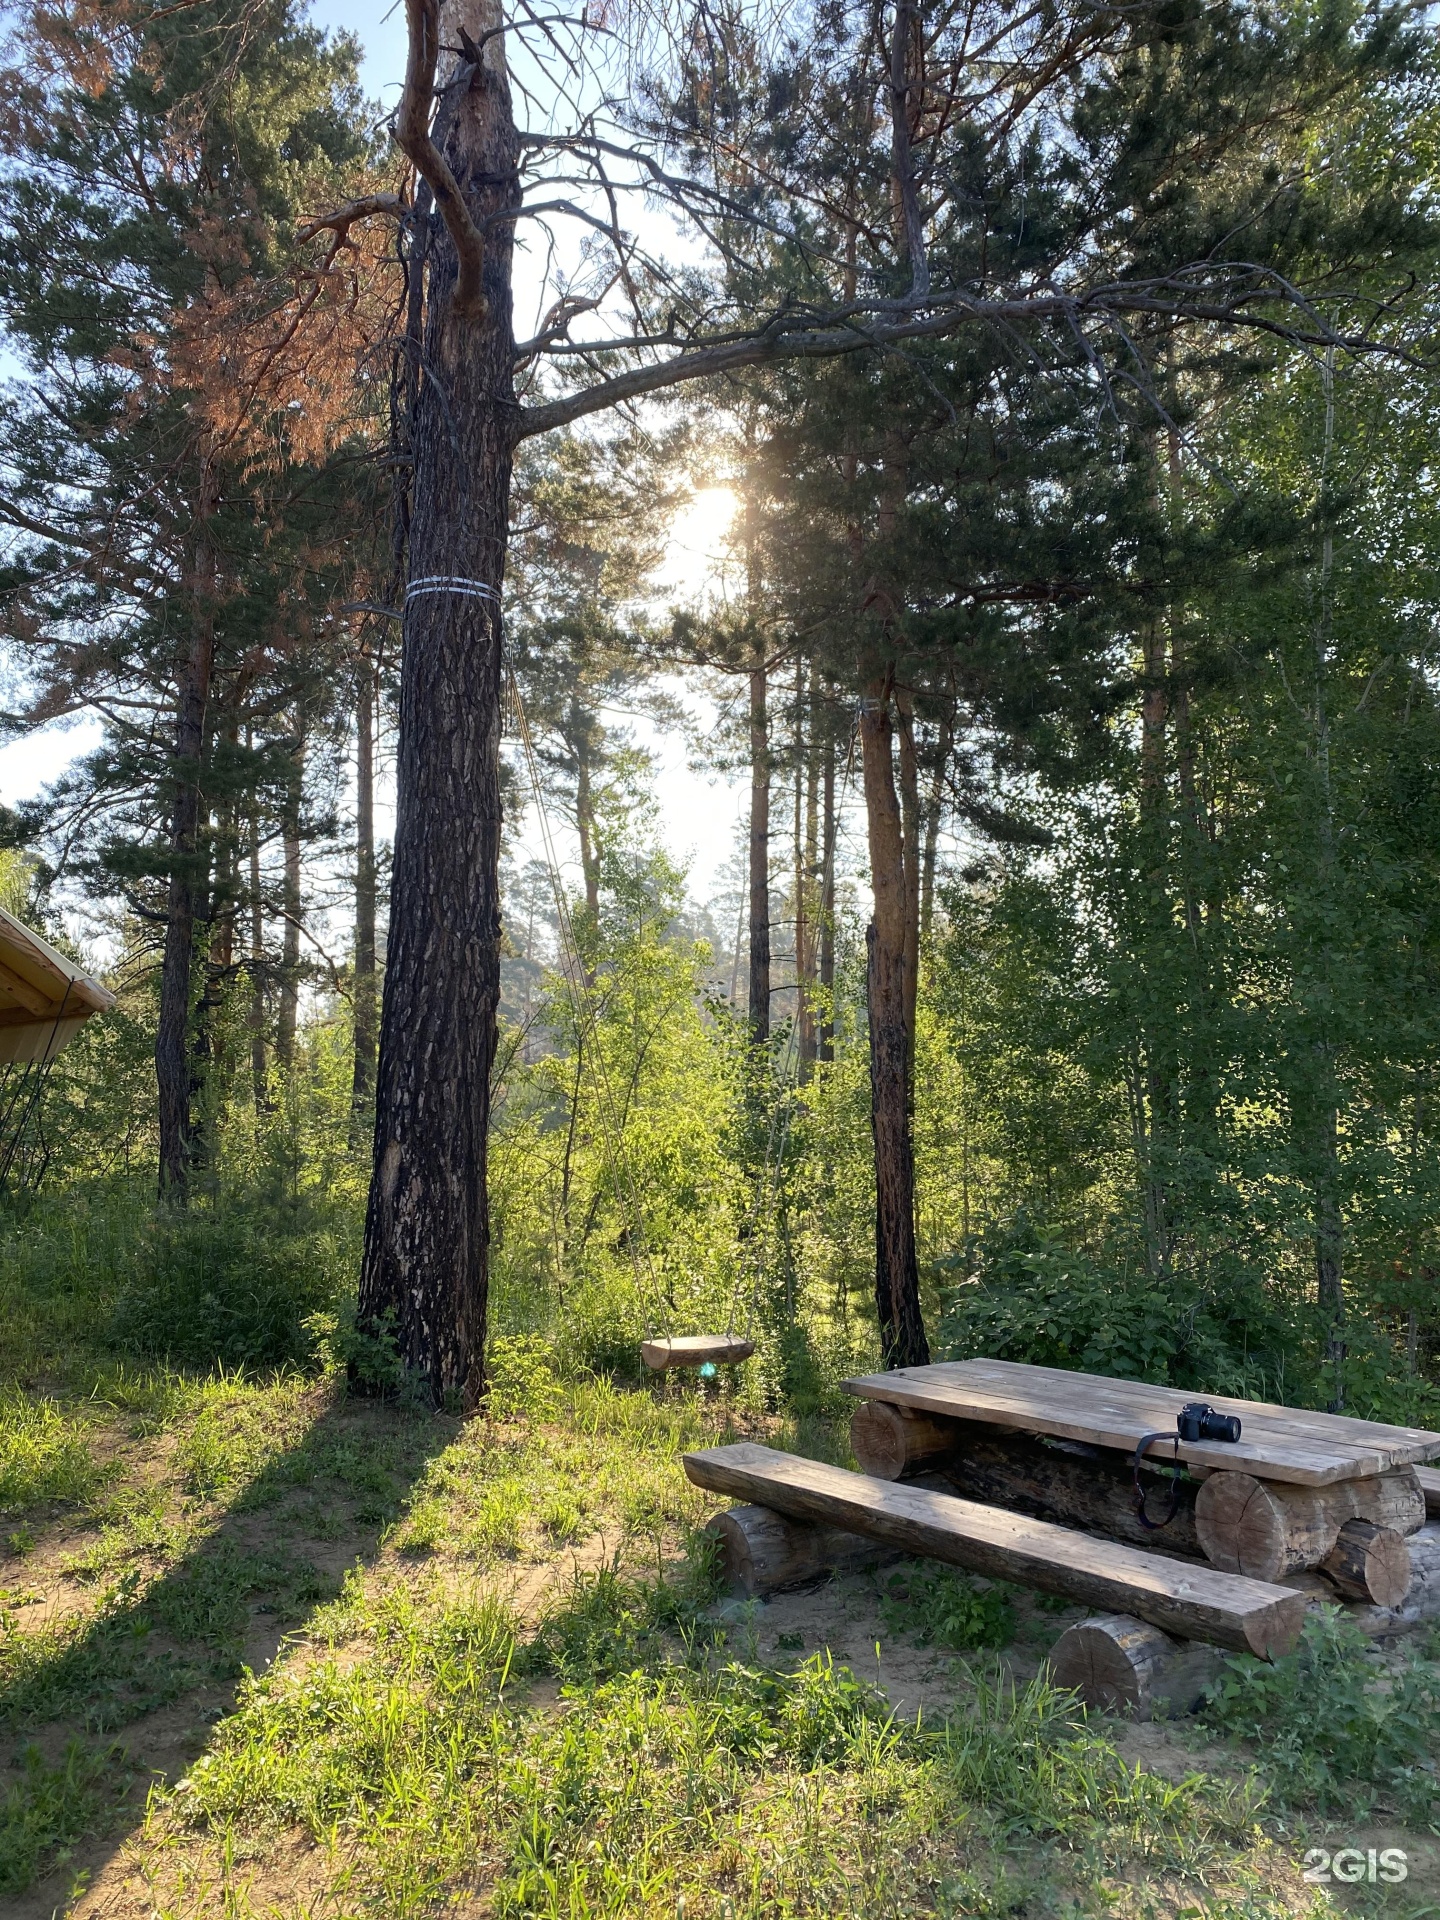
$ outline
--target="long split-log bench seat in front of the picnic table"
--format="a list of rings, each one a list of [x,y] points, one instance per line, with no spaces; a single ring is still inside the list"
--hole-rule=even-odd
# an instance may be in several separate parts
[[[1308,1607],[1304,1594],[1279,1586],[1092,1540],[973,1500],[872,1480],[766,1446],[708,1448],[685,1453],[684,1463],[695,1486],[714,1494],[870,1534],[908,1553],[1064,1594],[1104,1613],[1135,1613],[1187,1640],[1286,1653]]]

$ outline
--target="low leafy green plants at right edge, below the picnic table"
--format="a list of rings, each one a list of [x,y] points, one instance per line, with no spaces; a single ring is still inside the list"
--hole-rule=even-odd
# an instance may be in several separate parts
[[[1204,1713],[1256,1743],[1283,1801],[1361,1812],[1379,1797],[1421,1826],[1434,1818],[1440,1672],[1411,1659],[1382,1684],[1371,1644],[1338,1607],[1313,1611],[1284,1659],[1227,1661]]]

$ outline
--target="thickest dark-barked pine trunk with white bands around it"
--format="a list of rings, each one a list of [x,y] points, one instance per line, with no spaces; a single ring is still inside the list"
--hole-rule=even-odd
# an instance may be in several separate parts
[[[457,311],[449,232],[430,238],[415,422],[374,1173],[359,1319],[394,1327],[438,1404],[484,1388],[490,1212],[486,1129],[499,1000],[497,595],[515,449],[511,234],[518,144],[493,8],[465,10],[484,48],[442,94],[434,142],[486,230],[480,313]],[[470,17],[474,15],[474,17]],[[495,29],[495,31],[492,31]],[[444,40],[457,19],[445,10]],[[453,75],[451,75],[453,79]],[[495,597],[492,597],[495,595]]]

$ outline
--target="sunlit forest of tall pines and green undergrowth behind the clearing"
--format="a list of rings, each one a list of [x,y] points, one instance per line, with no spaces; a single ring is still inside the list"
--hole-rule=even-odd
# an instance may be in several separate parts
[[[15,1204],[442,1405],[724,1327],[1419,1419],[1425,13],[407,23],[386,113],[290,0],[12,15],[6,724],[94,745],[6,887],[121,1002]]]

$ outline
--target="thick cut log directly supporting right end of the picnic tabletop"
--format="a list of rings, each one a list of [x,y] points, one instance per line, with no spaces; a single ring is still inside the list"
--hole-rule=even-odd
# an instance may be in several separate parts
[[[1369,1521],[1394,1534],[1425,1524],[1425,1496],[1413,1467],[1369,1480],[1286,1486],[1250,1473],[1212,1473],[1194,1503],[1206,1559],[1254,1580],[1283,1580],[1319,1567],[1346,1521]]]

